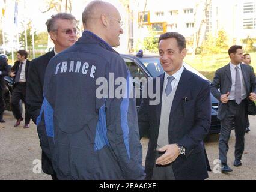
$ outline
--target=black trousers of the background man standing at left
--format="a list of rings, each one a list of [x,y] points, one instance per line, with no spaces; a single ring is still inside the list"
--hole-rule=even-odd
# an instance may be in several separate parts
[[[28,107],[26,105],[26,83],[16,83],[13,89],[11,107],[17,120],[22,119],[22,113],[20,112],[19,107],[20,100],[22,100],[25,104],[25,124],[29,124],[30,115],[28,114]]]

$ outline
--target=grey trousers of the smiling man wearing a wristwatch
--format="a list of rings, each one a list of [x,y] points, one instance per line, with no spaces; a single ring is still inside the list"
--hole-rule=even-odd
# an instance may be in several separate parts
[[[159,153],[157,151],[156,160],[161,156],[162,153]],[[153,169],[152,180],[176,180],[172,169],[172,164],[168,164],[167,166],[160,166],[155,164]]]

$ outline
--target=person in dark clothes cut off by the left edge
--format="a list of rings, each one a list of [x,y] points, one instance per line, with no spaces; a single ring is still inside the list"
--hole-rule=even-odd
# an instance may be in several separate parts
[[[3,94],[4,94],[4,76],[8,76],[8,58],[6,55],[1,54],[0,55],[0,123],[5,123],[3,119],[3,113],[4,113],[4,100],[3,100]]]

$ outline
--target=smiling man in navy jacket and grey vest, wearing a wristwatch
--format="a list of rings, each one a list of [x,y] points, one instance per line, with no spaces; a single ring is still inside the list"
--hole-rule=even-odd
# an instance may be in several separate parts
[[[141,137],[149,133],[146,179],[208,177],[203,140],[210,129],[210,85],[183,67],[186,52],[183,35],[168,32],[160,36],[160,62],[165,71],[159,76],[160,104],[151,105],[146,98],[138,112]],[[154,91],[155,83],[156,79]]]

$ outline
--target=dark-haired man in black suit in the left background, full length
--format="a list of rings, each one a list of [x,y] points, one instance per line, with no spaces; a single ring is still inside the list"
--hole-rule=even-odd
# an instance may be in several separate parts
[[[13,113],[17,119],[14,127],[18,127],[23,121],[22,113],[20,112],[20,100],[25,103],[25,125],[23,128],[29,128],[30,116],[28,115],[28,106],[26,104],[26,82],[28,80],[28,68],[30,61],[28,60],[28,52],[19,50],[17,52],[17,61],[11,67],[10,77],[14,78],[14,88],[11,100]]]

